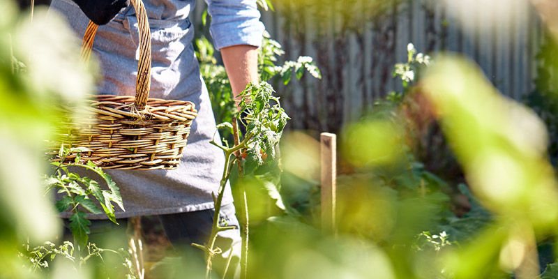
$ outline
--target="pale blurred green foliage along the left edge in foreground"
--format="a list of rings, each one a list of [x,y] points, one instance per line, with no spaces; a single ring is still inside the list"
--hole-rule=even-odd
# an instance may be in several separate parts
[[[40,183],[45,140],[61,125],[55,107],[90,93],[93,77],[63,20],[36,10],[31,22],[13,1],[0,6],[0,277],[29,278],[17,243],[52,240],[60,228]]]

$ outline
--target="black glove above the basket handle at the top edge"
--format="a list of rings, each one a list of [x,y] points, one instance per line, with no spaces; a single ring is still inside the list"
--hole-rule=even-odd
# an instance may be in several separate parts
[[[122,8],[130,5],[130,0],[72,0],[93,23],[109,23]]]

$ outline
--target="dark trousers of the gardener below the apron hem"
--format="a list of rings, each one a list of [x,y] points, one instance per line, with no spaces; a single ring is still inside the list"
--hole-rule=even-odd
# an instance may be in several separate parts
[[[156,271],[153,272],[158,275],[152,276],[153,278],[203,278],[205,274],[204,252],[193,247],[191,243],[205,245],[209,241],[211,227],[213,227],[213,213],[213,209],[208,209],[158,216],[165,229],[165,234],[179,258],[167,259],[164,263],[156,264],[154,266]],[[128,250],[126,227],[129,221],[124,218],[118,219],[117,222],[119,225],[110,220],[91,220],[89,241],[96,243],[99,248]],[[219,222],[222,226],[234,226],[236,229],[229,229],[218,234],[216,246],[222,252],[213,258],[213,271],[222,274],[227,269],[226,278],[234,278],[238,273],[240,262],[241,236],[233,204],[221,207]],[[65,234],[68,237],[70,232],[67,220],[65,220],[65,227]],[[230,263],[227,264],[229,260]],[[106,261],[103,264],[106,266]],[[188,276],[184,277],[185,274]]]

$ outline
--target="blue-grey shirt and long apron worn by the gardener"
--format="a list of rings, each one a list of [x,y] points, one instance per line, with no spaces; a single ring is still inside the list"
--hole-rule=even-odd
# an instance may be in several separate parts
[[[261,44],[264,25],[259,21],[255,0],[206,0],[206,3],[217,50],[232,45]],[[190,128],[188,145],[177,169],[106,170],[119,186],[126,209],[126,212],[116,212],[116,218],[213,208],[211,193],[217,193],[225,163],[223,152],[209,144],[216,135],[216,123],[192,45],[194,31],[188,14],[195,0],[144,0],[144,5],[151,28],[149,96],[189,100],[195,103],[198,116]],[[51,10],[66,17],[77,36],[83,36],[89,20],[73,1],[52,0]],[[131,6],[99,27],[93,44],[93,54],[102,74],[98,93],[135,95],[137,44],[137,20]],[[223,204],[231,202],[227,187]]]

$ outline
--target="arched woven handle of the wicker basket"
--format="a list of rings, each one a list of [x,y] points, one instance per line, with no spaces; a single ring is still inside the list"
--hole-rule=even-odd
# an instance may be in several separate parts
[[[137,27],[140,33],[140,61],[137,62],[137,80],[135,86],[135,107],[145,107],[149,98],[149,87],[151,86],[151,31],[147,21],[147,13],[142,0],[131,0],[135,8]],[[87,24],[87,29],[82,42],[82,59],[89,61],[91,48],[97,33],[98,25],[93,22]]]

